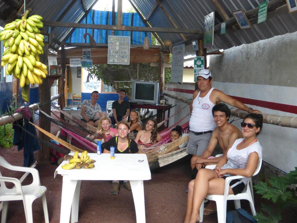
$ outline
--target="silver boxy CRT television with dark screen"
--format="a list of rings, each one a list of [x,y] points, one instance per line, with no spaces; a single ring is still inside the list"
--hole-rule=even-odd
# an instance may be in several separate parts
[[[157,104],[159,98],[159,83],[132,81],[132,102]]]

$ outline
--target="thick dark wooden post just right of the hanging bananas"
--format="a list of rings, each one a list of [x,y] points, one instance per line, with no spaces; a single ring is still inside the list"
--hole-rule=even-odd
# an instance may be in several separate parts
[[[48,44],[45,44],[44,46],[44,52],[48,51]],[[47,61],[47,54],[40,54],[40,61],[44,64],[48,63]],[[49,71],[50,72],[50,71]],[[50,115],[50,83],[48,81],[48,77],[44,78],[42,81],[42,84],[38,87],[39,91],[39,102],[41,104],[40,109],[42,109],[43,112]],[[46,104],[42,104],[45,103]],[[46,120],[45,118],[39,116],[39,127],[44,129],[45,131],[50,132],[50,122]],[[43,134],[42,132],[38,132],[38,137],[40,139],[43,139],[47,142],[50,141],[50,138]],[[44,145],[43,143],[40,143],[40,150],[38,151],[38,158],[37,158],[37,164],[48,164],[50,161],[50,147],[47,145]]]

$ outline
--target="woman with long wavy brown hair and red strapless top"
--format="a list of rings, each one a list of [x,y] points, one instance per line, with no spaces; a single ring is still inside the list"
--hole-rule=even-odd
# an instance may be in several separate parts
[[[137,142],[138,145],[142,145],[146,148],[159,142],[162,140],[162,137],[157,133],[157,128],[157,121],[154,118],[150,118],[146,122],[146,129],[140,130],[137,133],[135,142]]]

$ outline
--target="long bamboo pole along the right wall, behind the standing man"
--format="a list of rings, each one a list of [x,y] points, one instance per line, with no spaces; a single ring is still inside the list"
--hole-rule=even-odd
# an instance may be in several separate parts
[[[191,99],[188,99],[188,98],[179,97],[177,95],[171,95],[166,92],[164,92],[163,94],[165,96],[182,101],[187,104],[191,102]],[[230,112],[231,112],[231,115],[241,119],[244,119],[244,117],[246,117],[246,115],[248,114],[247,112],[242,110],[238,112],[238,110],[235,108],[231,108]],[[271,125],[279,125],[279,126],[289,127],[289,128],[297,128],[297,116],[295,117],[284,116],[284,115],[280,116],[280,115],[266,114],[266,113],[262,113],[262,115],[263,115],[263,123],[267,123]]]

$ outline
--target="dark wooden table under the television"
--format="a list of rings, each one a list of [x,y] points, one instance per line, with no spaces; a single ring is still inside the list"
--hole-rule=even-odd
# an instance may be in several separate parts
[[[167,119],[170,117],[170,109],[172,104],[166,105],[151,105],[151,104],[143,104],[143,103],[131,103],[130,102],[131,110],[134,108],[140,109],[156,109],[157,110],[157,122],[160,123],[161,121],[165,120],[165,112],[168,110]],[[169,127],[169,120],[167,120],[166,128]],[[165,129],[165,123],[162,125],[162,130]]]

